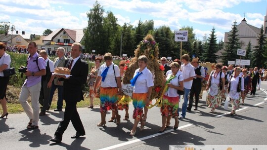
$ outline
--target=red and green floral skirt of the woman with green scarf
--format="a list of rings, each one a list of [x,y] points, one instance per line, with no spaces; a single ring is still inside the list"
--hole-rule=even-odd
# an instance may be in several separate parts
[[[178,116],[178,108],[179,108],[179,96],[177,97],[169,97],[163,96],[162,98],[162,107],[160,108],[160,112],[162,116]]]

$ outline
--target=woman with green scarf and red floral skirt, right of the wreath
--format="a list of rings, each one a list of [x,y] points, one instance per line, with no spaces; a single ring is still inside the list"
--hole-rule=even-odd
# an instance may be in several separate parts
[[[164,95],[162,98],[162,107],[160,109],[162,115],[162,127],[159,133],[165,131],[170,125],[171,118],[175,118],[174,130],[178,129],[178,108],[179,108],[179,95],[177,90],[183,90],[183,77],[182,73],[179,72],[180,65],[177,62],[173,62],[171,65],[172,73],[166,78],[165,88],[163,91]],[[164,89],[165,89],[164,88]]]

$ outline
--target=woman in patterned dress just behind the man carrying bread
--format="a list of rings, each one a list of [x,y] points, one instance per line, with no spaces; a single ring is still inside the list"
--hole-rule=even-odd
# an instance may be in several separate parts
[[[94,60],[95,66],[92,66],[90,74],[87,76],[87,82],[89,86],[89,99],[90,99],[90,106],[89,109],[93,109],[93,98],[99,98],[99,87],[97,87],[96,93],[93,92],[94,83],[100,68],[101,58],[97,57]]]

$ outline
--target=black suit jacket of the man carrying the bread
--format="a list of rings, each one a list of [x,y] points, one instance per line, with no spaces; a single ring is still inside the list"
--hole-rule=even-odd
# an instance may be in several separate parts
[[[65,67],[68,68],[71,59],[67,60]],[[81,58],[74,64],[69,79],[64,79],[63,84],[63,99],[65,101],[77,101],[84,100],[82,87],[86,83],[87,75],[89,71],[88,63]]]

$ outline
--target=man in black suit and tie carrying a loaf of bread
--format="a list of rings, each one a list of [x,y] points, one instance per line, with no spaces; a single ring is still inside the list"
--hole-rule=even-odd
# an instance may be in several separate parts
[[[82,45],[78,42],[71,46],[72,58],[68,60],[66,65],[71,70],[71,76],[57,75],[58,78],[64,78],[63,99],[66,102],[66,108],[63,120],[59,123],[54,137],[50,139],[52,142],[61,142],[62,135],[70,121],[76,130],[76,135],[72,136],[72,139],[85,135],[85,129],[76,108],[77,102],[84,100],[82,85],[86,83],[89,70],[87,62],[80,58],[82,49]]]

